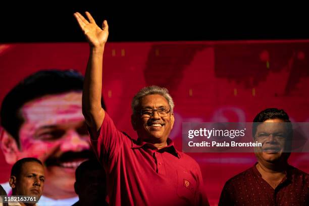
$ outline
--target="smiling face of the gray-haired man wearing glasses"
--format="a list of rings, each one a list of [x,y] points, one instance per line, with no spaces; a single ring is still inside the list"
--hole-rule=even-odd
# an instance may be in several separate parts
[[[170,109],[166,98],[160,94],[146,95],[140,99],[139,110],[143,109]],[[139,138],[149,143],[166,142],[174,125],[174,114],[168,113],[166,117],[160,117],[154,112],[150,117],[135,115],[132,124]]]

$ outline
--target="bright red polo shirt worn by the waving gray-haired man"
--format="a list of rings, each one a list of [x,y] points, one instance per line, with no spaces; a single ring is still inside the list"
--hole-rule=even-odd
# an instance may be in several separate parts
[[[162,149],[135,141],[106,113],[91,143],[107,172],[111,205],[208,205],[198,164],[171,139]]]

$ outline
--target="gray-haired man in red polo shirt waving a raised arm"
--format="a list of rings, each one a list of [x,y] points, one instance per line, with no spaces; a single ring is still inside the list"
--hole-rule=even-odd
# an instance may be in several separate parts
[[[102,58],[108,24],[99,28],[74,14],[90,44],[83,90],[83,114],[92,146],[107,172],[111,205],[208,205],[198,164],[168,138],[174,124],[174,102],[158,86],[141,89],[132,100],[131,123],[138,139],[116,129],[101,108]]]

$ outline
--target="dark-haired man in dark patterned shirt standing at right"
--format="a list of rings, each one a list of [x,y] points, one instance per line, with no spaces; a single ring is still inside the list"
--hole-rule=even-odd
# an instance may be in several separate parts
[[[252,135],[262,143],[252,168],[228,180],[223,205],[309,205],[309,175],[288,165],[292,125],[283,110],[270,108],[253,120]]]

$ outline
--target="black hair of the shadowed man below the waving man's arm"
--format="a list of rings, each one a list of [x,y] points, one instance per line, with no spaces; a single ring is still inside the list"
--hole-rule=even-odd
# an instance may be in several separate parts
[[[85,172],[92,171],[92,170],[104,171],[102,165],[96,159],[91,159],[91,160],[82,162],[75,170],[75,181],[80,182],[81,179],[84,178]]]

